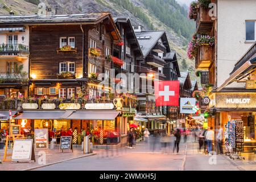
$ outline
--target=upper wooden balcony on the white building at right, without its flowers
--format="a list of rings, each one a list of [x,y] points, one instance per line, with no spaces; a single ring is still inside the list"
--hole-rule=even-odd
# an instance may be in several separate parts
[[[197,34],[210,34],[213,27],[212,17],[209,16],[209,8],[205,9],[203,7],[199,7],[197,10],[197,18],[196,18],[196,32]]]

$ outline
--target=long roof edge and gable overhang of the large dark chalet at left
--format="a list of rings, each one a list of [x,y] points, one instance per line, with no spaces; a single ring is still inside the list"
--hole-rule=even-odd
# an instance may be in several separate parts
[[[64,14],[64,15],[2,15],[0,16],[0,27],[22,25],[68,25],[68,24],[98,24],[106,22],[112,27],[114,41],[121,42],[121,35],[115,26],[112,15],[109,12],[103,13],[82,13],[82,14]]]

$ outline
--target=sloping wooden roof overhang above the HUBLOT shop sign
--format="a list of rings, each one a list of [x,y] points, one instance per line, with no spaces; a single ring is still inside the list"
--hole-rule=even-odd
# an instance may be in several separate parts
[[[249,50],[237,61],[233,71],[230,73],[230,77],[217,88],[217,91],[223,89],[226,85],[231,84],[234,81],[242,82],[242,79],[249,76],[256,71],[256,43],[249,48]]]

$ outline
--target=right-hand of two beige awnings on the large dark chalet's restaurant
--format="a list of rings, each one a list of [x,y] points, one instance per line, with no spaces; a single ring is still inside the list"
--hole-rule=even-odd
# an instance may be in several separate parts
[[[118,111],[75,111],[67,119],[115,120]]]

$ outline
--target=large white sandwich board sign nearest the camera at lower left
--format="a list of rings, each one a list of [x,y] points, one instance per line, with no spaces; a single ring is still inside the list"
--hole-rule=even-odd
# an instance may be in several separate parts
[[[35,150],[32,139],[18,139],[14,142],[12,162],[35,161]]]

